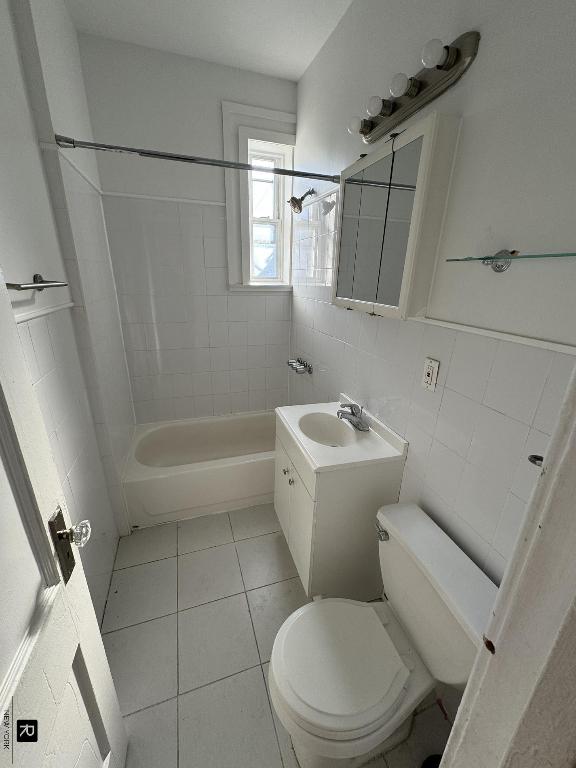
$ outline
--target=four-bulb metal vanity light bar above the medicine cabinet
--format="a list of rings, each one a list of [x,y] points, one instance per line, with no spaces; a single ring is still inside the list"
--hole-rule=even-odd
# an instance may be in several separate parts
[[[398,72],[390,83],[392,99],[371,96],[366,112],[369,120],[353,117],[348,133],[362,137],[365,144],[387,136],[397,125],[415,115],[456,83],[470,67],[480,43],[480,33],[465,32],[449,45],[434,38],[420,53],[423,69],[415,75]]]

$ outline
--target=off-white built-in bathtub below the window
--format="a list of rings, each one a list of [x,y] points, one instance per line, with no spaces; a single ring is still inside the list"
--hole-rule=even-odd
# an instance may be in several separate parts
[[[274,440],[272,412],[136,427],[124,476],[130,524],[271,502]]]

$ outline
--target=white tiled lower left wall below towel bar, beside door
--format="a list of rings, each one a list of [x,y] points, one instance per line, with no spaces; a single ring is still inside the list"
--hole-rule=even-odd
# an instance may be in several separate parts
[[[101,619],[118,533],[71,311],[21,323],[18,330],[72,522],[88,518],[92,523],[90,545],[79,553],[96,615]]]

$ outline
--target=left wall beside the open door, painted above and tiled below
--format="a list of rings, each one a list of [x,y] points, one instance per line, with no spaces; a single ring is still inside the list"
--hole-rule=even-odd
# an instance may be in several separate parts
[[[20,21],[22,19],[20,18]],[[0,3],[0,83],[3,112],[0,155],[2,268],[29,264],[46,276],[64,276],[35,125],[28,110],[15,30],[6,2]],[[48,257],[48,259],[46,258]],[[60,274],[49,274],[59,265]],[[12,260],[12,261],[11,261]],[[54,302],[56,291],[44,292]],[[70,294],[67,294],[68,297]],[[48,301],[48,306],[49,306]],[[38,309],[36,304],[30,309]],[[16,310],[16,307],[15,307]],[[18,311],[15,315],[18,317]],[[86,384],[80,368],[70,309],[30,319],[18,318],[30,377],[42,408],[52,454],[73,521],[90,517],[95,536],[81,551],[94,606],[102,614],[118,534],[96,443]]]

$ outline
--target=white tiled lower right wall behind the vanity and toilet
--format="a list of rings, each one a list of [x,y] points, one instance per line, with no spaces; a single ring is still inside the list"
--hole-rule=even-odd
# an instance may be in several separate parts
[[[574,358],[527,345],[330,305],[335,213],[295,221],[292,403],[346,392],[406,437],[401,499],[420,504],[497,582],[538,478]],[[435,392],[424,358],[440,361]]]

